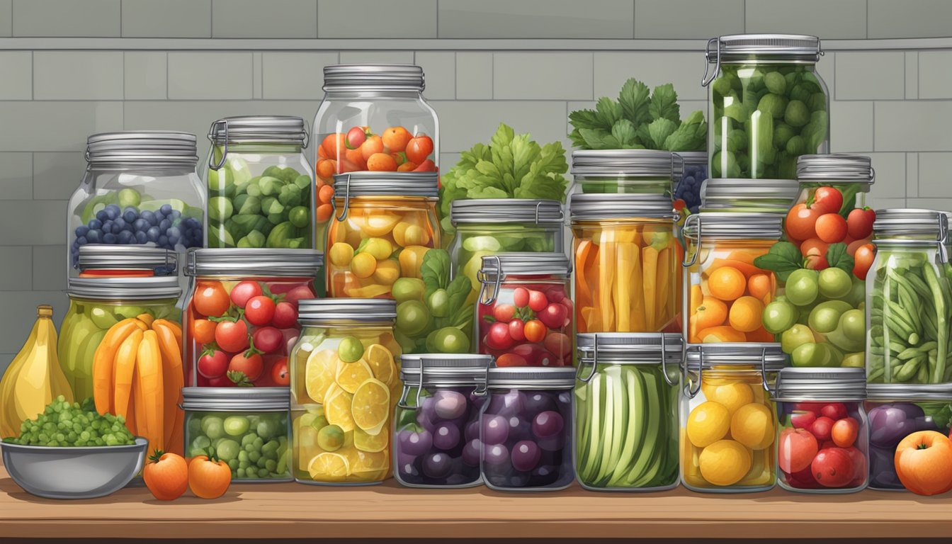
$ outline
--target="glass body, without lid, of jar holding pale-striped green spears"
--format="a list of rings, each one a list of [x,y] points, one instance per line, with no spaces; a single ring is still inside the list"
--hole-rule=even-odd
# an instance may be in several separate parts
[[[661,361],[599,363],[590,379],[577,380],[575,473],[582,487],[660,491],[678,485],[674,384],[665,381]]]

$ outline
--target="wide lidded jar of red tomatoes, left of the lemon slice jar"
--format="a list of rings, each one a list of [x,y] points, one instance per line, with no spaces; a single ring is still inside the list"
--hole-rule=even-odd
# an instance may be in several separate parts
[[[288,387],[298,301],[315,297],[323,258],[309,250],[189,252],[186,385]]]

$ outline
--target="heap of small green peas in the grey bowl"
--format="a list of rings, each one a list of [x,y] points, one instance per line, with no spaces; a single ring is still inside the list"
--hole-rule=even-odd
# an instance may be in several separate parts
[[[21,446],[128,446],[135,443],[122,416],[96,412],[91,399],[82,404],[59,395],[46,408],[17,426],[3,441]]]

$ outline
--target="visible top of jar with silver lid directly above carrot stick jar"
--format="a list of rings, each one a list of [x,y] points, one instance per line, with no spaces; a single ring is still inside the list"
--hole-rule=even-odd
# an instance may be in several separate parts
[[[684,163],[670,151],[580,150],[572,151],[572,185],[575,192],[648,193],[673,192]]]

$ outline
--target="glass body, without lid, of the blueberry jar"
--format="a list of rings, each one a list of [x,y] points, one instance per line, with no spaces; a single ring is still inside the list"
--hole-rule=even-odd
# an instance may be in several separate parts
[[[147,244],[184,254],[205,244],[205,191],[194,165],[90,163],[69,198],[67,269],[86,244]]]

